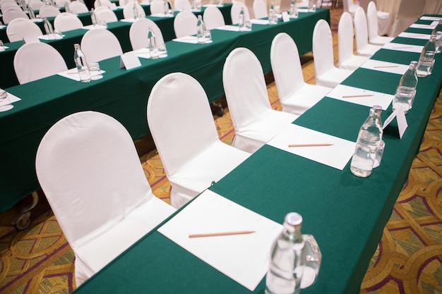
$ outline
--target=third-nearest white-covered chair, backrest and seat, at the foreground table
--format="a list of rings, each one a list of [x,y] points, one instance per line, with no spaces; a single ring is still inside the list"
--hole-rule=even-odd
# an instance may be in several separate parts
[[[235,130],[234,147],[253,153],[298,118],[272,109],[263,68],[249,49],[230,52],[222,69],[222,84]]]

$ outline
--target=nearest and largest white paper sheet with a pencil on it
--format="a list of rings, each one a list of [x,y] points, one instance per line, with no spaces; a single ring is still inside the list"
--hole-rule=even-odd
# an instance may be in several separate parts
[[[268,270],[270,248],[282,225],[205,190],[158,231],[253,291]],[[189,238],[194,233],[227,231],[255,233]]]

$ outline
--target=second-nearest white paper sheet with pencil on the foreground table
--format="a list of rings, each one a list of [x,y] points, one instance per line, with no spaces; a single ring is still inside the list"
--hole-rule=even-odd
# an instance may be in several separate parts
[[[297,144],[333,144],[332,146],[316,147],[289,147]],[[335,169],[345,168],[347,162],[352,158],[356,143],[310,130],[299,125],[290,124],[275,135],[267,145],[285,150],[300,157],[310,159]]]

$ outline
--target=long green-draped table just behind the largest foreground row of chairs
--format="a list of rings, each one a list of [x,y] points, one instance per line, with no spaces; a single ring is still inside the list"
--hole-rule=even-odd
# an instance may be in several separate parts
[[[146,106],[157,80],[172,72],[192,75],[203,85],[210,102],[222,97],[222,66],[232,49],[248,47],[271,71],[270,44],[278,32],[287,32],[298,44],[300,54],[311,51],[313,27],[319,19],[330,22],[330,11],[300,13],[299,18],[277,25],[253,25],[251,32],[213,30],[213,43],[166,42],[164,59],[140,59],[141,67],[126,71],[120,58],[100,61],[106,73],[101,80],[81,83],[61,75],[6,88],[20,101],[0,112],[0,212],[39,189],[35,154],[44,133],[59,119],[77,111],[94,110],[120,121],[133,140],[148,135]],[[5,54],[6,52],[0,53]],[[190,106],[189,106],[190,107]]]

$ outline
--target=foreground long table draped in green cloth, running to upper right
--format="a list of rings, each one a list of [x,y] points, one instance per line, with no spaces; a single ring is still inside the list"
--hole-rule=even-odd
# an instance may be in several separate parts
[[[431,30],[410,28],[407,32],[429,34]],[[426,41],[397,37],[393,42],[423,45]],[[418,58],[419,53],[390,49],[381,49],[371,57],[405,65]],[[394,94],[400,77],[396,73],[358,68],[342,85]],[[264,145],[210,190],[278,223],[282,223],[288,212],[296,211],[303,216],[302,231],[315,236],[323,259],[316,283],[301,293],[359,293],[371,256],[419,149],[441,82],[442,54],[438,54],[432,75],[419,78],[405,134],[400,139],[395,121],[388,125],[383,135],[386,148],[381,166],[369,178],[353,176],[350,161],[340,171]],[[390,105],[382,113],[383,121],[391,113]],[[294,124],[354,142],[368,114],[367,106],[324,97]],[[181,208],[178,214],[191,204]],[[228,219],[229,214],[225,217]],[[253,293],[263,293],[264,289],[265,278]],[[75,291],[76,294],[251,292],[156,229]]]

